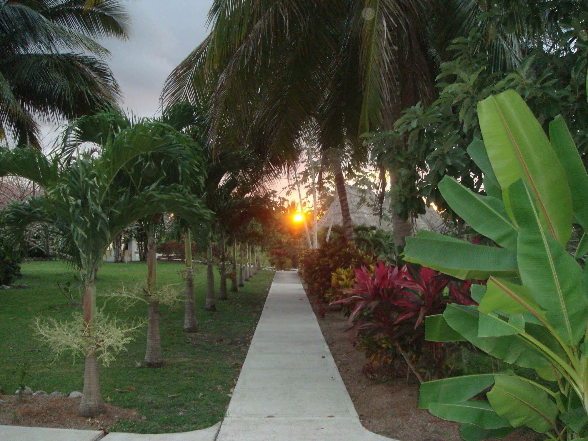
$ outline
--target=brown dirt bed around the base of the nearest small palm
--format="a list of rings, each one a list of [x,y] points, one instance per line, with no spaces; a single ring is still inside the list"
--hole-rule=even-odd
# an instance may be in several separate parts
[[[0,395],[0,425],[60,427],[62,429],[106,430],[119,418],[137,420],[133,409],[106,405],[105,415],[85,418],[78,415],[81,398]]]

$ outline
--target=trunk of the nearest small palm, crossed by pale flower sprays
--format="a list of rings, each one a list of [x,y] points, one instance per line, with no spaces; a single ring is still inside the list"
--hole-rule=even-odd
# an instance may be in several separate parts
[[[93,274],[93,270],[92,270]],[[92,278],[88,282],[88,288],[83,293],[83,321],[85,335],[92,335],[92,321],[96,310],[96,283]],[[100,393],[100,378],[98,374],[98,355],[95,352],[86,354],[83,370],[83,395],[79,404],[79,415],[95,417],[106,412],[106,406]]]

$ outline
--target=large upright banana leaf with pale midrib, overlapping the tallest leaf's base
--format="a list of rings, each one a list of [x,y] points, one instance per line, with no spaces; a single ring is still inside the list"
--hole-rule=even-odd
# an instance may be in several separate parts
[[[546,310],[547,320],[563,341],[576,345],[584,335],[588,319],[582,268],[543,229],[526,182],[518,181],[510,186],[509,197],[519,224],[520,279],[533,293],[537,304]]]

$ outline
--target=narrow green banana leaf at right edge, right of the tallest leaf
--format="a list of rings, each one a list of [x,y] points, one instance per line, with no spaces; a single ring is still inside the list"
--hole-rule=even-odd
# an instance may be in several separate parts
[[[588,231],[588,173],[580,158],[580,152],[562,116],[557,116],[549,124],[549,138],[559,161],[567,175],[572,193],[574,216],[582,228]]]

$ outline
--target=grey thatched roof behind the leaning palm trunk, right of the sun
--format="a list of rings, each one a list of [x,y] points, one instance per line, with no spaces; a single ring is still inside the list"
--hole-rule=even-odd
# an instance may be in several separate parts
[[[392,220],[389,219],[390,216],[383,216],[383,219],[380,220],[378,213],[374,212],[376,202],[374,192],[370,190],[365,191],[353,185],[346,185],[345,189],[347,190],[349,211],[353,225],[376,226],[387,231],[393,230]],[[384,206],[386,207],[387,205],[388,203],[384,202]],[[319,219],[318,227],[319,229],[325,226],[328,228],[331,221],[333,225],[343,225],[342,219],[341,205],[339,198],[336,198],[325,215]],[[417,219],[413,219],[413,224],[415,225],[415,232],[421,229],[439,230],[443,226],[443,221],[435,210],[428,207],[424,215],[419,215]]]

